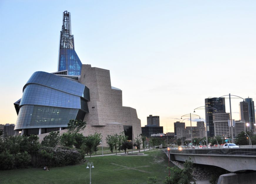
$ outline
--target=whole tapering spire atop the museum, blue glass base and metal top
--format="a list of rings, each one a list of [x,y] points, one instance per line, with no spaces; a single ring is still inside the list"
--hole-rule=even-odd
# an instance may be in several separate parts
[[[63,12],[63,23],[60,33],[58,71],[67,70],[67,75],[81,75],[82,63],[76,54],[74,35],[71,34],[71,13]]]

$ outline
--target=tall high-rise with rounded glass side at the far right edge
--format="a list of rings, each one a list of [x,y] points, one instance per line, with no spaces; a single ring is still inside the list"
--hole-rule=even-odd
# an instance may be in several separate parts
[[[255,130],[255,110],[254,110],[254,101],[252,98],[245,98],[243,102],[239,103],[240,110],[240,119],[244,120],[246,123],[249,123],[248,130]]]

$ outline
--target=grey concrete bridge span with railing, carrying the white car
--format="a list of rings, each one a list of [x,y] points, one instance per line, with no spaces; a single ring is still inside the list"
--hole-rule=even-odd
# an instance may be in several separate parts
[[[164,152],[168,155],[167,149]],[[254,147],[170,150],[172,161],[186,161],[189,158],[195,164],[217,166],[230,172],[256,171],[256,148]]]

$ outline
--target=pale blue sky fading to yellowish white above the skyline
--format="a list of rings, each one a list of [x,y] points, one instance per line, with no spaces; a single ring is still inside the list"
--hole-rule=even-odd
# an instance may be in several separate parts
[[[110,70],[123,106],[141,126],[160,116],[164,132],[205,98],[256,99],[256,1],[0,1],[0,124],[16,123],[14,102],[35,71],[55,72],[63,11],[71,12],[83,64]],[[226,99],[226,112],[230,112]],[[232,118],[239,102],[231,99]],[[196,110],[205,121],[205,111]],[[190,120],[186,119],[186,126]]]

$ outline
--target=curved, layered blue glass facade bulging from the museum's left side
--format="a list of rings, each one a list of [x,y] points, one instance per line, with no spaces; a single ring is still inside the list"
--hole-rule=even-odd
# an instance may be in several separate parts
[[[51,73],[35,72],[23,88],[15,130],[66,127],[71,119],[83,120],[89,112],[89,99],[85,85]]]

